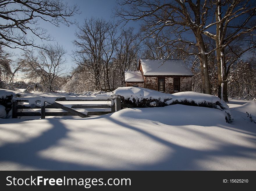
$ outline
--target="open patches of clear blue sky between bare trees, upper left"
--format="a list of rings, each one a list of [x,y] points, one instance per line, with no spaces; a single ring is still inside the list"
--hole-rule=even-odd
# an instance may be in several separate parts
[[[116,0],[67,0],[68,5],[72,6],[77,4],[79,7],[79,11],[81,12],[79,15],[75,15],[72,19],[76,19],[77,22],[81,25],[83,24],[84,19],[90,17],[98,17],[103,18],[107,21],[113,20],[113,8],[116,6]],[[116,18],[115,18],[116,19]],[[50,23],[40,21],[40,26],[48,30],[48,33],[55,39],[54,42],[63,45],[67,50],[67,66],[71,69],[72,63],[71,57],[68,54],[72,53],[72,49],[74,49],[72,41],[75,40],[75,31],[77,29],[76,25],[71,25],[67,27],[65,25],[61,25],[60,27],[56,27]],[[138,24],[134,22],[129,23],[129,26],[134,26],[134,28],[139,28]],[[42,42],[40,39],[37,40],[37,44],[42,44],[47,42]],[[16,54],[19,54],[21,51],[19,49],[12,49]],[[16,56],[15,56],[16,58]]]

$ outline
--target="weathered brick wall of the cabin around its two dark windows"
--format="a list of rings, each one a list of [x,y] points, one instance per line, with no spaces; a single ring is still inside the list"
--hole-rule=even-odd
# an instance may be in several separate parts
[[[145,88],[158,91],[158,77],[144,77],[144,81],[145,81]],[[192,86],[192,77],[180,77],[181,92],[192,91],[191,86]],[[168,94],[174,93],[173,77],[165,77],[165,93],[168,93]]]

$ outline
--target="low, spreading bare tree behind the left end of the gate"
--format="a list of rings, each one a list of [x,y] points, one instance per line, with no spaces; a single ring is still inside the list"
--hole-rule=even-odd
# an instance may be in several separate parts
[[[66,50],[59,44],[48,44],[39,49],[37,55],[25,52],[19,62],[24,65],[25,78],[40,82],[44,91],[55,91],[61,88],[60,79],[66,74],[65,54]]]

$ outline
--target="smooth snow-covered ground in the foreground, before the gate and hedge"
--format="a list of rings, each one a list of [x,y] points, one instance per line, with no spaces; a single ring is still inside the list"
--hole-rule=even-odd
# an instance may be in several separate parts
[[[130,108],[84,119],[0,119],[0,170],[256,170],[256,102],[223,111]]]

